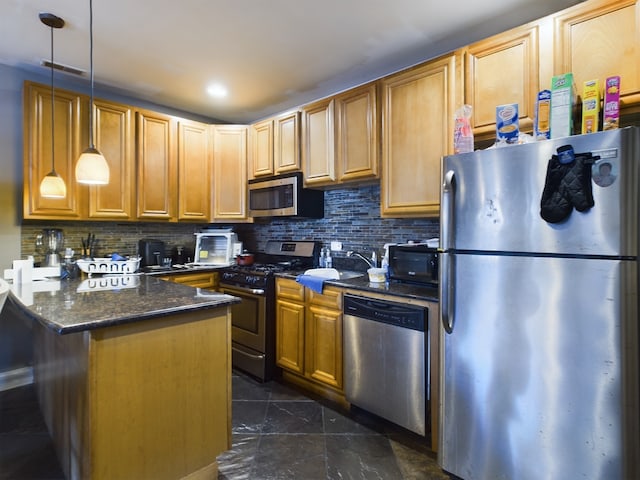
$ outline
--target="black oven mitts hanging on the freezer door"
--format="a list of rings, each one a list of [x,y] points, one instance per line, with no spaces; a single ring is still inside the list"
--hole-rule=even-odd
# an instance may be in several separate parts
[[[574,154],[571,146],[558,148],[547,164],[540,216],[549,223],[566,220],[575,208],[586,212],[594,205],[591,188],[591,166],[595,160],[591,153]]]

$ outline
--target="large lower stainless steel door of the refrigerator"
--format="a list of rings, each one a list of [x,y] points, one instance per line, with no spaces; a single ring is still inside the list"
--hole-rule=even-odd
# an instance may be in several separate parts
[[[636,263],[456,255],[455,266],[443,469],[465,480],[638,478]]]

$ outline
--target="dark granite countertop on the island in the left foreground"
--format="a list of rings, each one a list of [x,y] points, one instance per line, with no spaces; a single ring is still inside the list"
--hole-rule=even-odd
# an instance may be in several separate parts
[[[24,313],[59,334],[239,303],[152,275],[111,275],[11,285]]]

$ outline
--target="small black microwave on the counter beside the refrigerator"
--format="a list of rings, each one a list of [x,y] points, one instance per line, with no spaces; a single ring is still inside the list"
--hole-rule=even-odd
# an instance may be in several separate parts
[[[391,245],[389,278],[420,285],[437,285],[438,250],[424,243]]]

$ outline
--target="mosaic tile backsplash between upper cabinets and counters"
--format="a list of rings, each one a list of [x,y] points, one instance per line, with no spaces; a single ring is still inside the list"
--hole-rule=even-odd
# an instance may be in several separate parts
[[[334,253],[334,262],[344,260],[345,252],[355,250],[370,255],[372,249],[382,251],[385,243],[421,241],[438,236],[437,219],[387,219],[380,217],[380,186],[351,187],[325,192],[325,216],[322,219],[274,218],[256,219],[249,224],[182,224],[147,222],[75,222],[25,221],[22,225],[22,256],[42,255],[36,252],[35,237],[43,228],[64,231],[65,246],[80,254],[82,238],[96,236],[96,256],[137,253],[139,239],[163,240],[169,249],[184,246],[189,253],[195,246],[194,233],[203,227],[233,227],[244,248],[250,252],[264,250],[267,240],[317,240],[329,246],[331,241],[343,243],[343,252]],[[349,265],[341,266],[346,268]],[[362,266],[365,266],[362,262]]]

